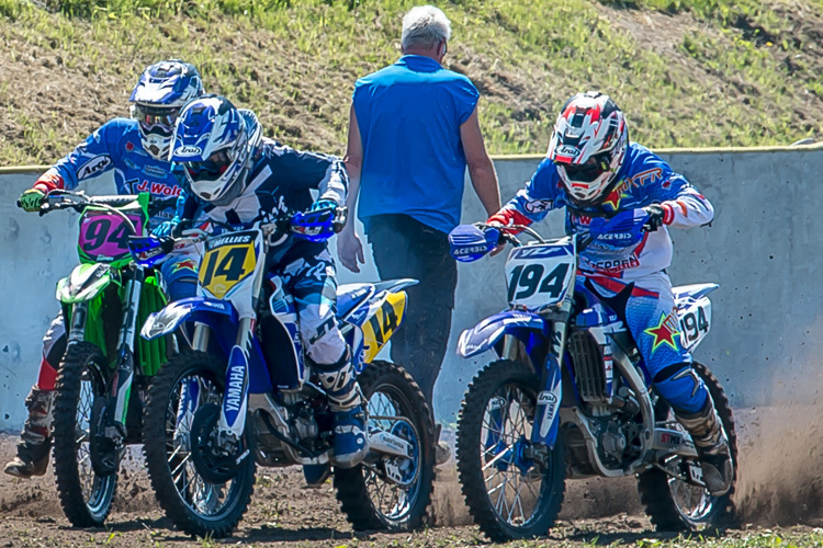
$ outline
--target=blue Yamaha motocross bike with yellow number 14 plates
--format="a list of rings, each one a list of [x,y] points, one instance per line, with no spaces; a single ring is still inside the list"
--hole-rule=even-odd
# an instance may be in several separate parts
[[[180,326],[193,332],[192,350],[172,357],[149,387],[143,433],[160,505],[188,534],[230,535],[251,499],[257,466],[328,470],[332,414],[304,356],[294,300],[266,269],[267,255],[290,235],[320,241],[345,222],[345,209],[317,215],[308,228],[291,215],[245,227],[215,224],[219,233],[203,235],[203,296],[169,305],[143,327],[150,341]],[[134,240],[133,251],[150,264],[173,244],[147,238]],[[361,465],[334,475],[356,529],[417,527],[431,496],[429,406],[403,368],[374,359],[401,327],[403,289],[415,283],[338,288],[337,321],[368,402],[371,446]]]

